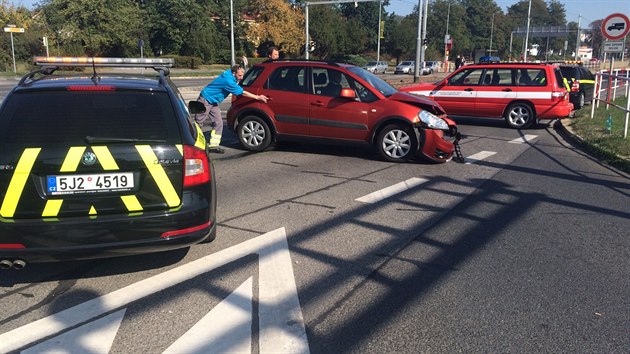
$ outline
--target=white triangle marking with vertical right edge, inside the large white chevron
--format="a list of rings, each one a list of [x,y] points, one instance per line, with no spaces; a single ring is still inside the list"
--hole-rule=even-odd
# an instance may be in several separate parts
[[[252,284],[250,277],[168,347],[164,354],[250,353]]]

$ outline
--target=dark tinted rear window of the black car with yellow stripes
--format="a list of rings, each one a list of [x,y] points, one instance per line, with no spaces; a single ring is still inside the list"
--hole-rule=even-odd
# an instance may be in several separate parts
[[[84,145],[86,136],[181,143],[165,92],[16,92],[0,112],[1,145]]]

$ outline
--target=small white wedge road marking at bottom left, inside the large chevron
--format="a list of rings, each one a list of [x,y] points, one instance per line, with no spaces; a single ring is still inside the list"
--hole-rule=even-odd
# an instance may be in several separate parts
[[[21,354],[109,353],[126,309],[23,350]]]

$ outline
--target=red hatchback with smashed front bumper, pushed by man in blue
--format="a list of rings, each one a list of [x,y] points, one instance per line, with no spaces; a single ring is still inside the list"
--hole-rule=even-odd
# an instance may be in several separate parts
[[[416,155],[445,162],[456,151],[456,123],[439,104],[399,92],[357,66],[261,63],[247,71],[241,85],[270,98],[265,104],[234,97],[228,110],[229,128],[249,151],[281,140],[368,145],[391,162]]]

